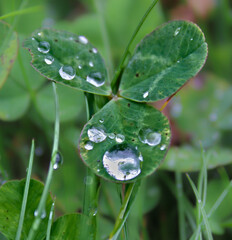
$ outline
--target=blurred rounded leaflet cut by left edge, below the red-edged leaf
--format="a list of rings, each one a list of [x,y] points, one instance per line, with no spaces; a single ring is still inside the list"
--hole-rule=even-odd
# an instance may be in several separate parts
[[[14,121],[27,111],[30,96],[13,79],[9,78],[0,91],[0,119]]]

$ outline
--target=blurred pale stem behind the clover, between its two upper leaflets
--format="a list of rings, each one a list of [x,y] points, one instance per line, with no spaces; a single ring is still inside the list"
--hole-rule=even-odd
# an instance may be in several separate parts
[[[109,68],[108,76],[111,79],[113,74],[113,60],[112,60],[112,54],[110,50],[111,48],[110,48],[109,36],[108,36],[108,32],[107,32],[107,28],[104,20],[104,10],[102,6],[102,0],[94,0],[94,3],[95,3],[97,15],[99,17],[102,40],[103,40],[103,44],[105,46],[105,51],[106,51],[106,60]]]

